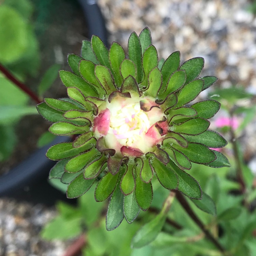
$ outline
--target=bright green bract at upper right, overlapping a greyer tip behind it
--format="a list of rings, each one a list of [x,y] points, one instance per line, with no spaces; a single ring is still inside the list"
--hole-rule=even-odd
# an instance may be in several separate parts
[[[194,80],[186,84],[180,91],[178,95],[178,102],[176,108],[184,106],[190,101],[194,100],[201,92],[203,88],[202,80]]]

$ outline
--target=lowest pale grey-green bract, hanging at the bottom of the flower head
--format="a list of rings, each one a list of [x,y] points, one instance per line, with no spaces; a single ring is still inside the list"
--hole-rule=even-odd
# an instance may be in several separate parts
[[[106,229],[108,231],[117,228],[124,219],[123,200],[124,195],[120,190],[119,184],[117,184],[106,214]]]

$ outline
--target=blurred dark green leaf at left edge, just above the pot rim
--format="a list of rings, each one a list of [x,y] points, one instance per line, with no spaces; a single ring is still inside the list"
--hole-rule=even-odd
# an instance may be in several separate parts
[[[5,161],[11,156],[16,142],[17,138],[14,127],[0,125],[0,162]]]

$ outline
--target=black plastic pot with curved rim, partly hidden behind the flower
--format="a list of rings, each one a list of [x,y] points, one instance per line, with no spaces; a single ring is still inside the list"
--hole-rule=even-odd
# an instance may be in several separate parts
[[[98,35],[107,45],[107,31],[98,5],[94,0],[78,1],[84,12],[88,37],[90,38],[93,34]],[[37,150],[7,174],[0,176],[0,197],[12,197],[47,205],[53,205],[56,200],[68,200],[65,194],[48,183],[49,170],[56,162],[45,156],[50,146],[65,141],[70,141],[70,138],[56,138],[55,141]]]

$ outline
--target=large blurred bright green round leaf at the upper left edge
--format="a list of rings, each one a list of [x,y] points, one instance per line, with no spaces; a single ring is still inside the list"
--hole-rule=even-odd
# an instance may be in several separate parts
[[[0,62],[14,62],[26,52],[29,42],[27,32],[28,26],[23,17],[15,9],[1,4]]]

